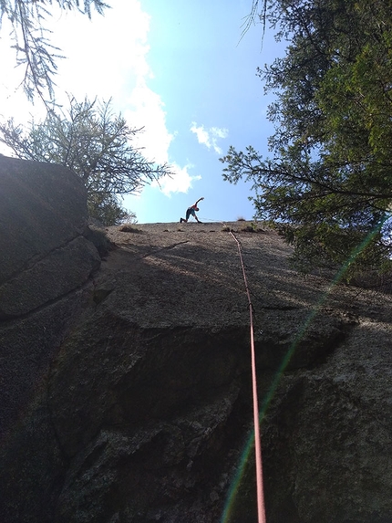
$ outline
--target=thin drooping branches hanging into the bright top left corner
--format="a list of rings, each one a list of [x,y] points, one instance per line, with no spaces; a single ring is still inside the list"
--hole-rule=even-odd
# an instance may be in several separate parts
[[[28,99],[37,93],[46,103],[54,99],[54,76],[60,49],[50,41],[46,27],[53,5],[65,11],[76,10],[91,17],[91,9],[99,14],[108,7],[102,0],[0,0],[0,26],[5,18],[12,26],[16,65],[25,68],[23,87]]]

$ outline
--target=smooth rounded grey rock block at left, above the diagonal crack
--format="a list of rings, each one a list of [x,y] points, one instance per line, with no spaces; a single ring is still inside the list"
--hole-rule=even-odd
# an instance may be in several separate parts
[[[0,284],[86,228],[86,189],[60,165],[0,158]]]

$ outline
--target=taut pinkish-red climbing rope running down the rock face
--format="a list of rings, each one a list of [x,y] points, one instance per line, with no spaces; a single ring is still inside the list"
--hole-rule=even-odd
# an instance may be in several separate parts
[[[259,422],[259,405],[257,400],[257,381],[256,381],[256,356],[254,350],[254,333],[253,333],[253,305],[251,301],[251,293],[248,288],[248,281],[246,279],[245,266],[242,259],[241,244],[232,234],[234,238],[238,252],[240,254],[242,276],[245,283],[246,295],[249,302],[249,315],[251,319],[251,354],[252,354],[252,389],[253,389],[253,424],[254,424],[254,451],[256,461],[256,482],[257,482],[257,515],[258,523],[265,523],[265,507],[264,507],[264,494],[263,494],[263,465],[262,465],[262,445],[260,442],[260,422]]]

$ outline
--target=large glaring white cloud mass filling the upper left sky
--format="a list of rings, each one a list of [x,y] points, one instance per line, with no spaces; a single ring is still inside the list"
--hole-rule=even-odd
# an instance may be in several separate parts
[[[57,11],[53,17],[51,41],[67,57],[57,59],[57,99],[66,107],[66,93],[77,99],[112,99],[113,110],[122,113],[129,127],[144,128],[134,141],[143,155],[153,162],[171,163],[169,149],[174,133],[167,129],[163,100],[148,85],[154,76],[148,59],[150,15],[142,10],[139,0],[111,0],[109,4],[112,8],[105,16],[93,13],[92,20],[64,11]],[[0,55],[0,66],[4,66],[0,96],[8,101],[6,111],[0,112],[15,116],[18,123],[30,120],[30,112],[42,118],[42,108],[39,112],[37,106],[29,106],[21,89],[14,95],[23,71],[18,70],[15,76],[15,51],[7,45],[9,42],[0,40],[0,50],[4,51]],[[14,81],[5,85],[5,78]],[[189,168],[174,165],[173,177],[160,183],[163,194],[186,193],[192,180],[199,179],[188,173]]]

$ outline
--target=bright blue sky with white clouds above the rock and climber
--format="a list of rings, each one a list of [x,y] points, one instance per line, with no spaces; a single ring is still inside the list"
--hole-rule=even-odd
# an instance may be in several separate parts
[[[168,162],[174,175],[160,185],[127,195],[122,205],[143,223],[178,222],[204,197],[203,222],[251,220],[250,183],[222,180],[219,158],[229,146],[247,145],[268,155],[273,126],[266,118],[273,96],[265,96],[256,68],[284,55],[273,32],[256,24],[242,35],[252,0],[108,0],[104,16],[91,20],[56,11],[51,42],[57,59],[58,100],[112,100],[130,127],[143,127],[135,146],[154,162]],[[43,118],[16,89],[23,71],[6,23],[0,33],[0,118]],[[2,152],[5,152],[2,150]],[[7,152],[5,152],[7,153]]]

